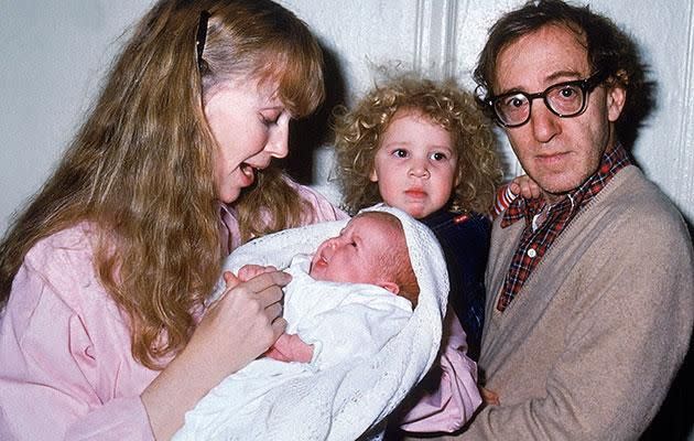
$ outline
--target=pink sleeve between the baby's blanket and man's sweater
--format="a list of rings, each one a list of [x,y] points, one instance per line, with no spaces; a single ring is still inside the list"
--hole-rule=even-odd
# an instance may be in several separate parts
[[[465,331],[449,309],[444,320],[440,358],[413,390],[400,415],[408,432],[453,432],[460,429],[481,404],[477,365],[467,355]]]

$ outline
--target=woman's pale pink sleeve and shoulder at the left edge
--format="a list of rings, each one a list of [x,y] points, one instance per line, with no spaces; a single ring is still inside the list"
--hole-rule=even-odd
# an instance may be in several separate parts
[[[156,373],[132,359],[90,252],[47,248],[30,251],[0,319],[0,439],[153,440],[140,392]]]

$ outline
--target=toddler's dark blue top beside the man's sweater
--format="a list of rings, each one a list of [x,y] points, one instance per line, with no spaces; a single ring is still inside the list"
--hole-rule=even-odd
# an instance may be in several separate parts
[[[477,213],[441,209],[421,219],[443,248],[451,282],[449,305],[467,334],[468,356],[479,357],[485,323],[485,268],[491,222]]]

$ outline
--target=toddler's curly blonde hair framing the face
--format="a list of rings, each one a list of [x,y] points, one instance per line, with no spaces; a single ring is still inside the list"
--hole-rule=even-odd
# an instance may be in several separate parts
[[[413,111],[447,130],[458,153],[458,184],[449,208],[486,214],[502,176],[491,121],[474,96],[453,79],[435,82],[416,73],[387,73],[348,110],[335,111],[336,174],[349,213],[382,202],[371,182],[376,153],[397,112]]]

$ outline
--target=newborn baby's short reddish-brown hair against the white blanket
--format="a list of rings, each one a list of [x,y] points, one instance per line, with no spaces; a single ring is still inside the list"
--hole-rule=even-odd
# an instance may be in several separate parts
[[[390,213],[382,212],[366,212],[358,216],[370,216],[387,222],[391,230],[395,233],[389,241],[390,245],[381,250],[379,256],[381,276],[392,280],[400,288],[398,295],[410,300],[413,308],[416,306],[420,284],[412,269],[412,260],[410,260],[410,251],[400,219]]]

